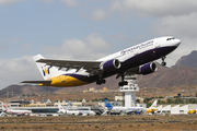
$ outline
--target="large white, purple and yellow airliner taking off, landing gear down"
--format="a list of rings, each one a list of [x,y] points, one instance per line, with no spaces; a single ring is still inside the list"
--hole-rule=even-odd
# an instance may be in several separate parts
[[[120,50],[95,61],[71,61],[45,59],[40,55],[34,57],[39,72],[45,81],[23,81],[22,83],[37,83],[40,86],[70,87],[96,82],[105,83],[105,78],[117,74],[121,76],[119,86],[127,85],[124,81],[127,74],[149,74],[157,71],[152,61],[162,59],[181,44],[174,37],[159,37],[134,47]]]

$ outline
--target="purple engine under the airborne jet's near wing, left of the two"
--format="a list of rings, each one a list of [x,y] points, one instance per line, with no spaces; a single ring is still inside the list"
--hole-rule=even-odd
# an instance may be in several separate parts
[[[119,69],[121,63],[118,59],[108,60],[100,64],[100,70],[103,72],[112,72]]]

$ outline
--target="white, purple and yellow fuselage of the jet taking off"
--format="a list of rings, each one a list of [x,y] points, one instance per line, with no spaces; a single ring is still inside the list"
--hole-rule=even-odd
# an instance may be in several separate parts
[[[181,44],[179,39],[174,37],[160,37],[138,44],[116,53],[109,55],[96,61],[108,61],[118,59],[121,63],[120,68],[111,72],[103,72],[102,78],[108,78],[119,72],[154,61],[172,52]],[[93,83],[100,79],[100,74],[91,75],[84,69],[71,69],[62,71],[61,74],[50,78],[51,84],[39,84],[42,86],[70,87]]]

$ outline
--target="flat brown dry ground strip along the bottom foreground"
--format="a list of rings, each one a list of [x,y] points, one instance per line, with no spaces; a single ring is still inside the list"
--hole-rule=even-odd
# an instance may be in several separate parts
[[[196,115],[1,117],[0,130],[197,130]]]

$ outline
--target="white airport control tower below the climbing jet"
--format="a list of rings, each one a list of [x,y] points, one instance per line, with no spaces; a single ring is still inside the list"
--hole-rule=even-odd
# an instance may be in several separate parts
[[[120,92],[125,92],[125,107],[136,107],[136,92],[139,92],[136,75],[126,75],[127,85],[120,87]]]

